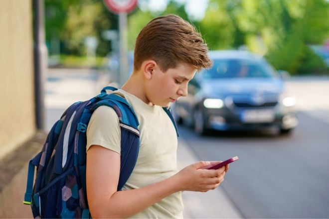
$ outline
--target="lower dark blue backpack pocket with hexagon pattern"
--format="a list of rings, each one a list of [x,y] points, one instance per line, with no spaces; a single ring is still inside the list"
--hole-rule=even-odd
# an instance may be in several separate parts
[[[39,193],[34,195],[33,201],[41,218],[81,217],[79,186],[75,168],[71,167],[56,177]]]

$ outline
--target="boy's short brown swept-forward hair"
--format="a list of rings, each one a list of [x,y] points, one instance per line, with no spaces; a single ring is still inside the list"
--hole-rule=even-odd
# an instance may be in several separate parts
[[[175,68],[183,62],[196,70],[209,68],[207,44],[194,26],[173,14],[151,20],[139,33],[134,51],[134,70],[143,61],[153,59],[162,71]]]

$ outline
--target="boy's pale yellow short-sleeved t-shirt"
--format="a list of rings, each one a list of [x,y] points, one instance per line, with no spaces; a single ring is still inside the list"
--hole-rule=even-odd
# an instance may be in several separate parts
[[[160,106],[149,106],[121,89],[114,92],[124,97],[135,110],[140,122],[140,151],[136,166],[123,190],[138,189],[162,181],[177,173],[175,128]],[[87,150],[95,144],[120,154],[121,132],[114,109],[99,107],[87,128]],[[181,192],[174,193],[132,218],[182,218]]]

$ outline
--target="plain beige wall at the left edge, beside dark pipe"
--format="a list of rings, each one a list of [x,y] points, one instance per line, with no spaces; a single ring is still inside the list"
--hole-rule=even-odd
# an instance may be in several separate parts
[[[0,0],[0,159],[35,133],[32,1]]]

